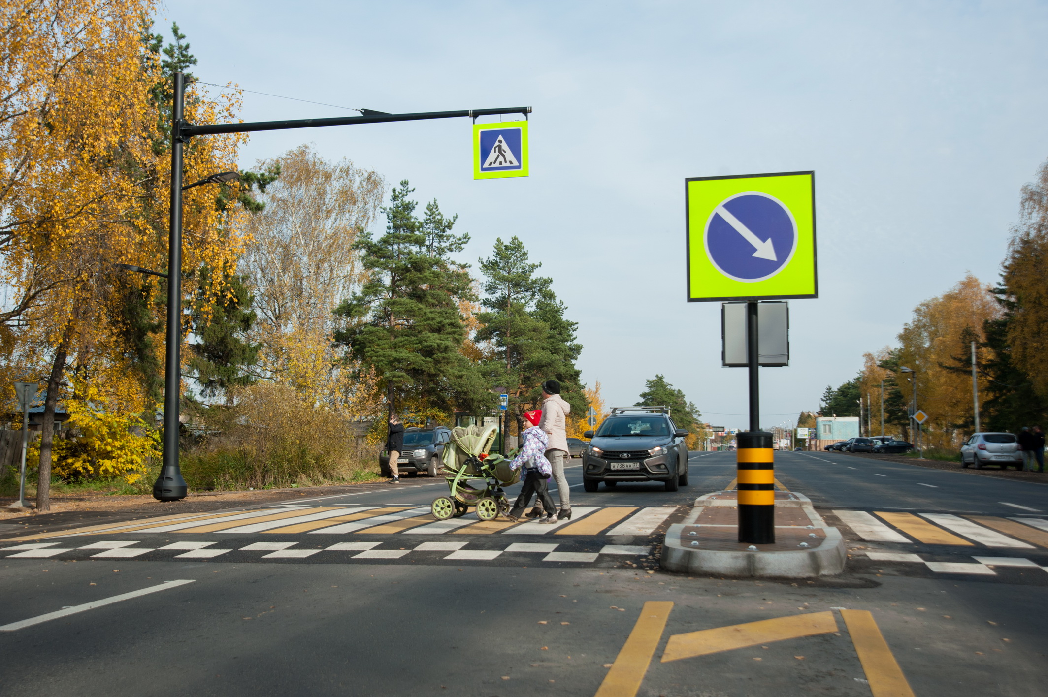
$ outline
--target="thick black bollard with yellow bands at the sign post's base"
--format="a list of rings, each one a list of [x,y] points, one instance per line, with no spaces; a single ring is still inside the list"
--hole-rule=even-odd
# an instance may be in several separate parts
[[[743,431],[736,436],[739,477],[739,542],[776,541],[776,471],[771,434]]]

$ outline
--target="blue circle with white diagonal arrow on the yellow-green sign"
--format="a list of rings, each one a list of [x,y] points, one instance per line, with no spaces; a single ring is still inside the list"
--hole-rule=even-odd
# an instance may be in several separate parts
[[[754,283],[786,268],[796,249],[796,221],[773,196],[745,192],[717,204],[703,241],[706,256],[724,276]]]

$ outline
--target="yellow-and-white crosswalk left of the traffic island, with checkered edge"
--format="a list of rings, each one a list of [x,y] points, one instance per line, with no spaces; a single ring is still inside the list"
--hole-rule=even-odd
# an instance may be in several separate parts
[[[539,562],[654,568],[653,550],[659,540],[653,536],[674,514],[682,516],[685,510],[576,506],[568,520],[540,524],[481,521],[475,513],[438,521],[429,506],[417,505],[277,505],[23,536],[0,541],[0,559]],[[534,538],[544,542],[527,541]]]

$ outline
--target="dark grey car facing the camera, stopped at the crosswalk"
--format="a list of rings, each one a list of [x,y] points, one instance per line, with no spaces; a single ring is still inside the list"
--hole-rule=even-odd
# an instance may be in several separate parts
[[[678,429],[667,407],[616,407],[583,453],[583,487],[595,492],[601,482],[660,481],[665,491],[687,486],[687,431]]]

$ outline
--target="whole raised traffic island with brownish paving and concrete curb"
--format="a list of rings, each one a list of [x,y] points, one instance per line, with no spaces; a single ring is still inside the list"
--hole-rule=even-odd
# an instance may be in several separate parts
[[[682,523],[671,525],[661,566],[681,573],[760,579],[810,579],[844,571],[844,537],[826,524],[811,501],[795,492],[776,492],[776,541],[739,542],[738,492],[714,492],[695,501]]]

